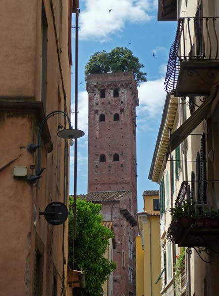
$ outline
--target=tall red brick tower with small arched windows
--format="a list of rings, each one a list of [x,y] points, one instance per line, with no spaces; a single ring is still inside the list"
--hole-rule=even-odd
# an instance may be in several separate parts
[[[135,295],[134,242],[137,234],[136,106],[132,73],[87,76],[88,194],[112,221],[116,247],[113,296]],[[128,227],[127,227],[128,226]]]

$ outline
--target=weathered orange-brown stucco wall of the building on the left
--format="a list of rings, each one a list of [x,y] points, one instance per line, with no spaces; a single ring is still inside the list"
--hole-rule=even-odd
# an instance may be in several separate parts
[[[58,63],[52,7],[44,0],[48,22],[47,52],[47,99],[46,113],[64,111],[64,90]],[[60,8],[54,1],[54,16],[61,50],[61,67],[66,93],[66,105],[70,106],[71,67],[68,57],[68,1]],[[36,252],[42,255],[42,296],[52,295],[54,278],[58,294],[63,276],[63,226],[49,225],[38,211],[44,211],[52,201],[64,201],[64,140],[58,140],[57,126],[63,118],[54,116],[48,120],[53,151],[46,153],[45,142],[41,147],[41,167],[45,167],[39,182],[40,189],[13,178],[13,166],[27,166],[28,174],[36,174],[30,166],[37,165],[36,153],[25,148],[28,143],[37,143],[38,125],[43,116],[30,106],[20,108],[19,102],[35,102],[40,96],[40,53],[41,53],[41,1],[1,1],[0,3],[0,102],[9,103],[13,111],[0,110],[0,168],[18,157],[13,163],[0,170],[1,195],[1,254],[0,266],[4,277],[0,279],[3,295],[34,294],[36,277]],[[59,27],[60,26],[60,27]],[[62,29],[62,30],[61,30]],[[19,110],[20,108],[20,110]],[[16,111],[15,111],[16,110]],[[69,110],[68,110],[69,112]],[[43,134],[43,137],[45,135]],[[66,191],[68,194],[68,188]],[[34,205],[37,222],[33,223]],[[65,223],[64,249],[68,257],[68,223]],[[65,268],[65,286],[67,264]],[[15,292],[16,291],[16,292]]]

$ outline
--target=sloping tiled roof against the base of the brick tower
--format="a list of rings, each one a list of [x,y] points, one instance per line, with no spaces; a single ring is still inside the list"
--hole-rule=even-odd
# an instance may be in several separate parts
[[[132,191],[129,190],[90,192],[84,195],[80,195],[80,197],[92,202],[119,201],[131,192]]]

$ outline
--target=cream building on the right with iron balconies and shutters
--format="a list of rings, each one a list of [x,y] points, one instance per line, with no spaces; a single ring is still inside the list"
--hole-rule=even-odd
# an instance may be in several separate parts
[[[219,291],[219,1],[158,0],[158,21],[178,22],[149,172],[160,185],[161,294],[214,296]],[[184,262],[177,274],[179,256]]]

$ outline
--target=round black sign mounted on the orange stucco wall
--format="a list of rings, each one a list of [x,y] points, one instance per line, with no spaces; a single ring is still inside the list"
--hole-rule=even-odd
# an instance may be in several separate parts
[[[69,211],[64,203],[54,201],[48,204],[44,211],[45,220],[52,225],[63,224],[69,216]]]

